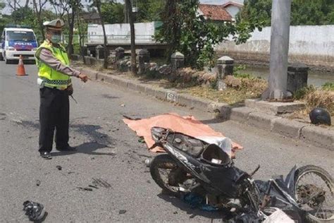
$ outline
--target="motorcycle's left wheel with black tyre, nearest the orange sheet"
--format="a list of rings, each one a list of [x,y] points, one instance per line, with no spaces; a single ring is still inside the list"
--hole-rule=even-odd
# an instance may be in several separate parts
[[[178,197],[179,187],[170,185],[171,171],[180,170],[178,164],[167,154],[157,155],[151,162],[149,171],[151,172],[152,179],[158,184],[163,191],[170,195]],[[169,171],[167,174],[163,174],[163,171]]]

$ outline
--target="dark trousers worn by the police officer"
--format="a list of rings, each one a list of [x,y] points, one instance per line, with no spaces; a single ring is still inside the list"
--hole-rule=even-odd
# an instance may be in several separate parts
[[[68,146],[70,103],[67,90],[41,88],[39,90],[39,152],[51,152],[54,130],[56,148]]]

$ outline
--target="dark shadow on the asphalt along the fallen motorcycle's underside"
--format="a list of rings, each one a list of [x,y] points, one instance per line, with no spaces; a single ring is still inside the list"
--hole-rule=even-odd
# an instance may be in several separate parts
[[[207,217],[211,220],[213,219],[223,219],[225,217],[223,212],[215,211],[215,212],[207,212],[204,210],[199,210],[198,208],[191,208],[190,205],[187,203],[184,203],[179,198],[175,198],[171,195],[168,195],[166,193],[159,193],[159,198],[162,198],[163,200],[166,200],[168,203],[171,203],[175,207],[180,208],[180,210],[183,210],[187,212],[188,215],[190,215],[190,218],[194,218],[197,215]]]

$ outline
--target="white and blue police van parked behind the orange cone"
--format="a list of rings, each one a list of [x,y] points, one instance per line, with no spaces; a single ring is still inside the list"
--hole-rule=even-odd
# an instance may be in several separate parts
[[[0,60],[6,64],[20,59],[35,60],[37,40],[34,30],[24,25],[6,25],[1,34]]]

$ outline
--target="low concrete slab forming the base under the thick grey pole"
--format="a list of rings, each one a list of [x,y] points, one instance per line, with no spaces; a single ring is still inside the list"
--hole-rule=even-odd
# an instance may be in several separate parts
[[[269,114],[291,113],[297,109],[302,109],[305,104],[302,102],[268,102],[259,99],[245,100],[246,107]]]

